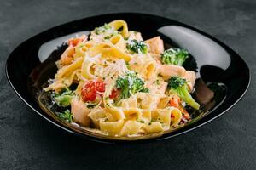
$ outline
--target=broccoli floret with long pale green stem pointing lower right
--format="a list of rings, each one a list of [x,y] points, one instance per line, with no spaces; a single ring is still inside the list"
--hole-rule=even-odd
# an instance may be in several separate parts
[[[200,105],[192,98],[189,94],[188,84],[185,79],[180,77],[171,77],[168,80],[167,88],[172,94],[177,94],[184,102],[196,110],[199,109]]]

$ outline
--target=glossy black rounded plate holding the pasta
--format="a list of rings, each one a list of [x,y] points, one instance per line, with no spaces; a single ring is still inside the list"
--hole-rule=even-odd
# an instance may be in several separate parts
[[[55,49],[57,49],[57,46],[61,46],[61,42],[71,37],[70,34],[90,31],[96,26],[102,26],[104,23],[118,19],[125,20],[131,30],[141,31],[144,39],[160,35],[165,42],[188,49],[196,60],[197,76],[201,77],[204,82],[222,82],[227,89],[224,99],[218,105],[215,105],[211,111],[208,111],[205,116],[186,126],[177,128],[173,132],[163,133],[150,139],[172,138],[201,127],[228,111],[246,93],[250,83],[249,69],[241,57],[223,42],[219,42],[216,38],[175,20],[151,14],[128,13],[104,14],[75,20],[61,26],[56,26],[26,40],[26,42],[22,42],[9,55],[6,63],[6,74],[15,93],[33,111],[69,133],[101,142],[124,141],[98,138],[96,135],[80,132],[68,127],[64,123],[56,121],[39,107],[37,99],[32,95],[34,92],[32,92],[33,87],[32,83],[30,83],[34,77],[38,77],[40,74],[45,76],[45,80],[55,74],[55,72],[47,73],[41,63],[49,58],[49,55],[57,55]],[[38,67],[40,64],[41,66]],[[37,83],[40,85],[42,82]]]

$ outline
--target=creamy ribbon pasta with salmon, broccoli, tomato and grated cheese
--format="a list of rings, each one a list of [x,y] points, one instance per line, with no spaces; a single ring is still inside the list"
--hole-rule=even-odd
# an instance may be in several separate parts
[[[73,37],[44,88],[64,122],[109,136],[159,133],[191,120],[195,72],[189,52],[166,48],[160,37],[143,40],[124,20]]]

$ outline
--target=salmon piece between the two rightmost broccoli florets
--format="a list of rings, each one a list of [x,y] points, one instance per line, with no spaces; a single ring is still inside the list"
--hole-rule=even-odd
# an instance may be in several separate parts
[[[170,77],[184,77],[186,70],[178,65],[160,65],[160,75],[165,79]]]

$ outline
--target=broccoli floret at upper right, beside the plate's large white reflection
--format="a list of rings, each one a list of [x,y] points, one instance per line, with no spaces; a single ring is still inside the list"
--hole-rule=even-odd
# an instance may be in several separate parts
[[[167,65],[183,65],[183,62],[189,58],[189,52],[185,49],[170,48],[161,54],[163,64]]]

